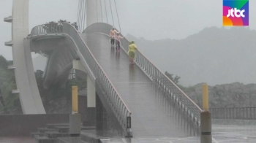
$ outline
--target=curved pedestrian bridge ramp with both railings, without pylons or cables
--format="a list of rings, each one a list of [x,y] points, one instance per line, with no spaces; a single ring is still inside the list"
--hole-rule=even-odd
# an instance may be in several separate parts
[[[80,59],[93,82],[108,116],[125,135],[136,137],[195,136],[202,110],[176,84],[154,66],[140,50],[129,64],[129,40],[121,39],[121,51],[111,49],[107,23],[94,23],[83,33],[69,23],[45,24],[31,30],[31,51],[47,53],[44,86],[64,85],[72,61]],[[140,48],[140,47],[138,47]],[[56,56],[58,55],[58,56]]]

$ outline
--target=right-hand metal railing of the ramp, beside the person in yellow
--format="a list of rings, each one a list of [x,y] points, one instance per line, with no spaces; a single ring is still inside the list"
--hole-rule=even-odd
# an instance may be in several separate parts
[[[102,33],[109,35],[111,28],[113,28],[113,26],[110,26],[107,23],[94,23],[86,28],[83,33]],[[121,48],[126,53],[128,52],[128,39],[121,39]],[[176,102],[176,104],[178,104],[178,107],[181,107],[182,111],[184,111],[184,113],[188,115],[189,118],[194,121],[194,123],[200,126],[200,112],[202,112],[202,109],[200,109],[200,107],[198,107],[197,104],[195,104],[195,102],[189,98],[189,96],[187,96],[180,88],[178,88],[178,86],[173,81],[171,81],[164,73],[162,73],[162,71],[160,71],[157,66],[149,61],[145,55],[140,53],[140,50],[136,52],[135,63],[148,75],[148,77],[150,77],[157,83],[157,85],[159,85],[159,87],[167,94],[167,96],[169,96],[173,101]]]

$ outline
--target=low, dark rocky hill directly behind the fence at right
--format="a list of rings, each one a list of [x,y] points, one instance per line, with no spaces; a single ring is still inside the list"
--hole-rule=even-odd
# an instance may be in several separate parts
[[[184,92],[192,98],[195,103],[202,105],[202,83],[184,88]],[[239,82],[230,84],[208,86],[209,107],[255,107],[256,106],[256,84],[244,85]]]

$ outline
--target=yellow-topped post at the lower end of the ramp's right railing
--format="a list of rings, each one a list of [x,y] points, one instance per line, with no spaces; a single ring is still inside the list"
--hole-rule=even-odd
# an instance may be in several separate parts
[[[203,84],[203,112],[201,119],[201,143],[211,143],[211,113],[208,111],[208,85]]]

